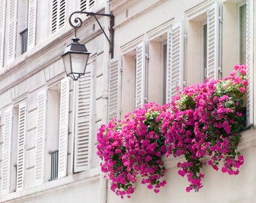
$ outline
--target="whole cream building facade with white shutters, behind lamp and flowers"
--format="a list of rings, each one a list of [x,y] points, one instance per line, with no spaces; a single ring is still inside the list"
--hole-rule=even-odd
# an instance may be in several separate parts
[[[0,202],[256,202],[254,0],[0,1]],[[77,36],[90,59],[77,81],[61,55]],[[105,38],[114,41],[114,54]],[[245,156],[233,177],[205,168],[200,192],[185,191],[177,160],[166,160],[159,193],[137,183],[132,198],[114,195],[99,168],[97,129],[147,102],[166,104],[180,86],[226,77],[246,64]],[[255,121],[255,122],[254,122]]]

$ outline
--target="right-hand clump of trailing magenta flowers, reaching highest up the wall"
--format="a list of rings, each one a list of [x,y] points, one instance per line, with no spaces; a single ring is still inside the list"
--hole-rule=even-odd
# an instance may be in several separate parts
[[[238,74],[236,74],[236,72]],[[243,128],[242,97],[247,80],[245,66],[236,65],[235,71],[223,80],[195,84],[172,98],[163,117],[162,132],[166,136],[166,155],[183,155],[178,174],[187,175],[191,189],[196,191],[203,185],[204,174],[200,171],[208,164],[228,174],[238,174],[243,156],[237,152],[239,132]]]

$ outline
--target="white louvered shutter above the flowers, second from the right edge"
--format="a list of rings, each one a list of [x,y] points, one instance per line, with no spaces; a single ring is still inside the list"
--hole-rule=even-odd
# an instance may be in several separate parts
[[[221,8],[218,2],[207,9],[207,39],[206,39],[206,77],[209,80],[219,78],[220,70],[220,20]]]

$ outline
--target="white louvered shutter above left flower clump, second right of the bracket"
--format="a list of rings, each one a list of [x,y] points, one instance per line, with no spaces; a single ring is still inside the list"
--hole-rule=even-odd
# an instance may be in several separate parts
[[[148,43],[143,41],[136,47],[135,108],[141,108],[147,99]]]

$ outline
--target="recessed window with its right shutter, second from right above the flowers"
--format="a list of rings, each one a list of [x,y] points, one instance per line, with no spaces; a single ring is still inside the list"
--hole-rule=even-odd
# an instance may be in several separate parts
[[[187,18],[187,85],[222,77],[221,4],[203,2]]]

